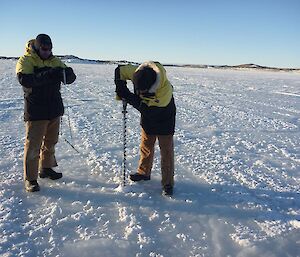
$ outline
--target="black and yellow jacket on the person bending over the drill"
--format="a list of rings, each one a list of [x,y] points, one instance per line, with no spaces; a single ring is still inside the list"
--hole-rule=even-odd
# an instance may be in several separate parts
[[[141,126],[148,135],[174,134],[176,106],[173,87],[167,79],[165,68],[159,62],[145,62],[140,66],[119,66],[119,79],[133,81],[134,73],[145,66],[156,72],[156,81],[148,90],[153,96],[131,93],[126,100],[141,112]]]

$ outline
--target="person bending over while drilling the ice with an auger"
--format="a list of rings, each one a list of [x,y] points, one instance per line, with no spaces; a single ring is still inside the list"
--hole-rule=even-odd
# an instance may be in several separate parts
[[[134,93],[126,80],[134,84]],[[115,70],[117,95],[141,113],[140,160],[132,181],[150,180],[154,145],[158,139],[161,154],[163,194],[172,195],[174,187],[174,144],[176,107],[173,87],[166,70],[158,62],[145,62],[140,66],[124,65]]]

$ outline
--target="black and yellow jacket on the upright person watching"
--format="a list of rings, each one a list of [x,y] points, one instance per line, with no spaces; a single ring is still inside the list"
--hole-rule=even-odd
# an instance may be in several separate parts
[[[54,76],[53,68],[67,66],[57,57],[51,55],[42,60],[33,48],[34,39],[26,44],[25,54],[19,58],[16,74],[24,91],[24,120],[51,120],[64,113],[60,93],[61,79]],[[68,76],[67,84],[76,79],[73,70]]]

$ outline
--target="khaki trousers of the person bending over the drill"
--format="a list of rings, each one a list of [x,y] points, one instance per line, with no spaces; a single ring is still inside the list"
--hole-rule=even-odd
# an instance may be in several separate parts
[[[174,186],[173,135],[147,135],[142,129],[138,173],[151,175],[156,138],[158,138],[161,156],[161,183],[163,186]]]

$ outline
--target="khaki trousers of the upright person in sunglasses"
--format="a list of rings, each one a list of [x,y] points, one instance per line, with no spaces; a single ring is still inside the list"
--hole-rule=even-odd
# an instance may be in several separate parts
[[[57,166],[55,144],[60,117],[53,120],[27,121],[24,147],[24,179],[37,180],[38,170]]]

